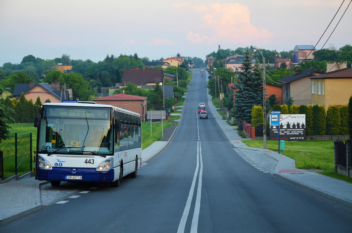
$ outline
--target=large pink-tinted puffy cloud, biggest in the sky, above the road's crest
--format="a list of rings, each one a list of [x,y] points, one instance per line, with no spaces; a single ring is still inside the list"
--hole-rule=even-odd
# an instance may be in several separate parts
[[[180,2],[171,5],[183,11],[193,10],[203,15],[201,19],[208,28],[208,33],[212,33],[211,39],[206,35],[188,32],[186,38],[192,43],[268,44],[273,38],[270,31],[251,24],[250,11],[245,5],[218,2],[205,5]]]

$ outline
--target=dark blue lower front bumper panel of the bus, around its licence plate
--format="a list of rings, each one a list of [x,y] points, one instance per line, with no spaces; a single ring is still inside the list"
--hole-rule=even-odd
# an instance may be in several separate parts
[[[52,168],[52,170],[37,170],[38,180],[59,180],[59,181],[114,181],[114,169],[106,172],[95,171],[95,168],[76,168],[76,173],[71,172],[72,168]],[[67,176],[82,176],[82,179],[66,179]]]

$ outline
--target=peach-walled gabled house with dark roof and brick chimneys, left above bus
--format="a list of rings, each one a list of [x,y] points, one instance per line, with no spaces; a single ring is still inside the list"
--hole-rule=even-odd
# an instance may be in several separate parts
[[[36,102],[38,96],[42,103],[47,99],[50,99],[51,103],[61,103],[62,99],[72,99],[72,89],[60,91],[59,82],[51,82],[51,85],[48,83],[16,83],[13,89],[13,96],[18,100],[21,94],[24,93],[24,97],[28,101],[32,99],[33,103]]]

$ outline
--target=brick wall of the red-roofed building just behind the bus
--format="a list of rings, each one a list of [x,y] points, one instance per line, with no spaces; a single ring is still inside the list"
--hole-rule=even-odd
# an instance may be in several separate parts
[[[108,100],[104,100],[104,101],[99,101],[99,100],[95,100],[94,101],[97,104],[110,104],[113,105],[115,107],[119,107],[119,108],[125,108],[128,111],[132,111],[132,112],[137,112],[138,114],[140,114],[142,116],[142,122],[144,122],[144,118],[145,118],[145,113],[146,113],[146,105],[147,105],[147,100],[145,99],[144,101],[142,100],[130,100],[130,101],[108,101]]]

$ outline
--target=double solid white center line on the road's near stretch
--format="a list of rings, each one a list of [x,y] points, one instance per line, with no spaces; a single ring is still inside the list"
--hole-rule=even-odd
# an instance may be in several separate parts
[[[199,210],[200,210],[200,199],[201,199],[201,192],[202,192],[202,175],[203,175],[203,159],[202,159],[202,148],[201,142],[197,142],[197,167],[194,172],[193,181],[191,185],[191,189],[189,190],[188,199],[186,202],[186,207],[184,207],[184,211],[182,214],[182,218],[180,221],[180,225],[178,225],[177,233],[183,233],[184,228],[186,226],[188,213],[191,208],[191,202],[193,199],[194,188],[197,180],[197,174],[199,170],[199,161],[200,161],[200,171],[199,171],[199,179],[198,179],[198,188],[197,188],[197,196],[196,196],[196,203],[194,206],[192,224],[191,224],[191,231],[190,232],[197,232],[198,229],[198,219],[199,219]]]

